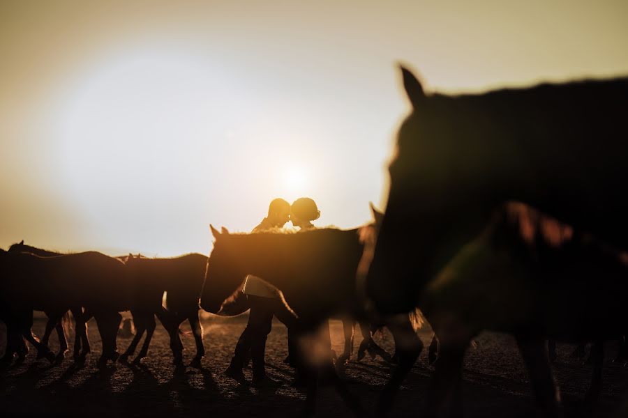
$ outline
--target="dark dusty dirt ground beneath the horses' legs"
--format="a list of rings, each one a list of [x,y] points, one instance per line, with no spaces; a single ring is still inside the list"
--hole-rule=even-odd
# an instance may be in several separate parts
[[[36,319],[34,332],[43,334],[45,323]],[[35,360],[31,350],[27,361],[0,371],[0,415],[76,416],[85,417],[292,417],[302,411],[305,394],[290,385],[294,373],[283,364],[287,354],[286,330],[274,323],[267,342],[267,369],[277,385],[255,389],[240,385],[223,375],[229,364],[235,343],[244,330],[246,317],[205,318],[204,345],[207,355],[202,368],[188,367],[175,371],[168,346],[167,334],[158,325],[149,357],[140,366],[110,364],[98,369],[100,338],[96,324],[89,323],[93,352],[82,367],[73,366],[68,358],[59,366],[45,360]],[[189,328],[184,328],[189,330]],[[421,330],[426,346],[431,340],[428,329]],[[342,352],[343,332],[339,321],[331,321],[334,349]],[[384,348],[393,351],[388,332],[377,336]],[[73,336],[70,336],[70,343]],[[183,336],[185,359],[195,354],[193,338]],[[356,330],[356,344],[361,341]],[[130,343],[130,337],[118,338],[119,351]],[[58,347],[53,336],[51,346]],[[70,344],[71,346],[71,344]],[[0,352],[4,351],[0,342]],[[599,405],[590,410],[582,402],[590,380],[591,368],[569,357],[573,346],[558,345],[558,362],[554,370],[562,390],[567,417],[628,417],[628,368],[613,364],[616,347],[608,343],[604,363],[604,387]],[[426,387],[432,368],[424,350],[391,412],[391,417],[421,416],[426,399]],[[367,410],[373,410],[377,394],[389,378],[390,366],[366,358],[350,362],[345,380]],[[245,375],[251,378],[251,370]],[[465,359],[463,396],[467,417],[530,417],[537,415],[527,373],[514,340],[500,334],[481,334],[477,348],[471,348]],[[317,396],[317,416],[347,417],[350,410],[331,387],[323,387]]]

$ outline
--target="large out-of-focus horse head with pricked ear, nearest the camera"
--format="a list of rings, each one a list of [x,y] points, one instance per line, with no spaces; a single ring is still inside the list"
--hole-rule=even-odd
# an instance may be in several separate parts
[[[366,292],[382,312],[410,311],[426,281],[456,252],[466,231],[465,210],[477,183],[463,155],[473,132],[456,98],[428,95],[410,70],[401,68],[412,111],[398,132],[389,165],[387,208],[377,237]],[[467,137],[461,138],[461,135]],[[461,149],[462,148],[462,149]]]

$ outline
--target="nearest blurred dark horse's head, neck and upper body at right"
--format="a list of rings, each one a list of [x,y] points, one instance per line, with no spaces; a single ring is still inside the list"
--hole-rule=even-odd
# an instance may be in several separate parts
[[[401,72],[412,112],[366,280],[377,307],[415,306],[506,201],[628,249],[628,78],[454,96]]]

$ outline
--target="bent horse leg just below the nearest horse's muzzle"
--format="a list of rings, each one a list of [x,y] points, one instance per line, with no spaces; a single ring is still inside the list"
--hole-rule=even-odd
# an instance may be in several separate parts
[[[423,341],[417,336],[409,318],[401,323],[391,323],[388,327],[396,342],[398,364],[377,401],[375,414],[378,417],[384,417],[390,411],[401,383],[408,376],[423,350]]]

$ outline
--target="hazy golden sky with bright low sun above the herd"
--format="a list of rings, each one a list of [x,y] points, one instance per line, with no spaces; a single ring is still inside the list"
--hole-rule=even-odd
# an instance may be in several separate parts
[[[628,75],[626,1],[0,0],[0,247],[208,254],[275,197],[383,208],[409,105]]]

